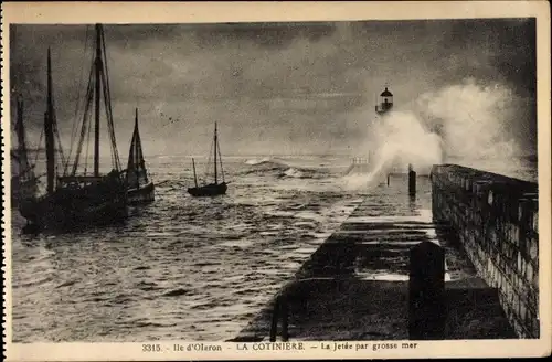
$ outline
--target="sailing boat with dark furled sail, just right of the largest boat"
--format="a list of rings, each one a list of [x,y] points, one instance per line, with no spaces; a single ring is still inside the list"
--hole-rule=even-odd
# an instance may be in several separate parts
[[[140,132],[138,131],[138,108],[136,108],[135,130],[128,153],[126,181],[129,203],[137,204],[155,200],[153,182],[148,180],[148,172],[146,171],[146,162],[144,161],[141,150]]]

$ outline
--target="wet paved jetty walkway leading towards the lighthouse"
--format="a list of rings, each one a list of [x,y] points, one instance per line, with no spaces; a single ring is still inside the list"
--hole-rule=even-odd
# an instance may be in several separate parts
[[[406,175],[378,187],[280,290],[290,340],[408,339],[408,252],[424,241],[445,249],[445,339],[516,338],[497,290],[432,222],[428,178],[418,178],[415,199],[406,188]],[[235,340],[268,340],[272,310],[273,302]]]

